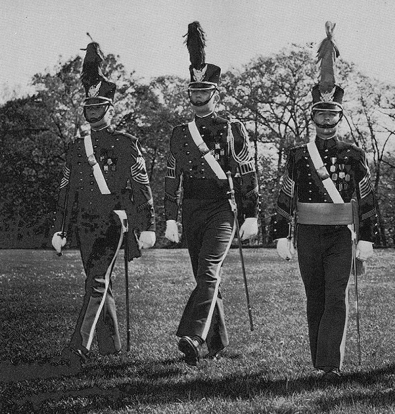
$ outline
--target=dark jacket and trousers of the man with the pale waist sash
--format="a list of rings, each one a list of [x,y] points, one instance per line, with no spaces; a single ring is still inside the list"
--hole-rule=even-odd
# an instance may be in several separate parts
[[[364,151],[336,137],[317,137],[316,146],[346,206],[353,198],[357,201],[359,240],[373,242],[376,209]],[[291,214],[299,208],[296,237],[307,297],[310,348],[315,368],[323,370],[342,365],[352,266],[351,233],[346,224],[341,224],[340,216],[322,215],[322,224],[309,224],[309,220],[314,222],[312,216],[331,211],[328,204],[333,206],[333,201],[316,172],[307,145],[292,149],[276,206],[275,239],[288,236]]]

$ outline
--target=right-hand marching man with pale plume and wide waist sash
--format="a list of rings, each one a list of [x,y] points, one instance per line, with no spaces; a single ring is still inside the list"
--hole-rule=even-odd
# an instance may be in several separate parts
[[[352,264],[373,254],[376,230],[366,154],[338,137],[344,91],[335,84],[333,66],[339,52],[333,28],[326,23],[327,37],[318,49],[321,71],[312,90],[311,112],[316,138],[289,153],[275,222],[277,252],[289,260],[293,254],[290,222],[297,210],[298,261],[307,297],[310,349],[313,365],[325,380],[341,376]]]

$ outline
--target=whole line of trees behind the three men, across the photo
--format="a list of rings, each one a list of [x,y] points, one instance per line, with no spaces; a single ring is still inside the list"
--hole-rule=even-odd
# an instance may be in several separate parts
[[[81,103],[82,59],[59,62],[53,73],[32,78],[33,96],[0,107],[0,247],[47,248],[51,213],[68,143],[88,128]],[[371,79],[338,60],[345,90],[342,139],[368,154],[377,197],[376,245],[395,245],[395,86]],[[186,68],[188,69],[188,68]],[[106,57],[104,72],[117,84],[114,126],[139,138],[144,150],[157,215],[157,246],[164,238],[166,151],[173,128],[192,117],[188,79],[160,76],[142,83],[126,73],[118,56]],[[187,72],[187,70],[186,70]],[[260,232],[247,244],[271,246],[274,206],[290,147],[314,138],[311,89],[318,69],[311,45],[292,45],[222,74],[218,113],[246,126],[260,187]]]

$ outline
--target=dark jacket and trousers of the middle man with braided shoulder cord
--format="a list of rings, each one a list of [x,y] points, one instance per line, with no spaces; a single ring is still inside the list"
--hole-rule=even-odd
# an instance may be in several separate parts
[[[258,186],[245,129],[215,113],[195,117],[198,132],[223,171],[231,171],[245,217],[256,217]],[[230,130],[231,129],[231,130]],[[228,345],[220,292],[220,269],[235,235],[229,183],[203,158],[188,125],[173,130],[165,176],[166,220],[177,220],[181,187],[182,223],[196,287],[176,335],[198,336],[215,354]]]

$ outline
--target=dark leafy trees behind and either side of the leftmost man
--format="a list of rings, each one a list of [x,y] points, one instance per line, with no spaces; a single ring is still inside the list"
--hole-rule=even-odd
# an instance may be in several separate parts
[[[4,148],[0,190],[7,195],[0,205],[0,232],[5,234],[1,247],[49,245],[49,220],[67,144],[88,128],[81,109],[81,64],[78,57],[59,64],[55,74],[36,74],[33,84],[39,91],[37,95],[10,101],[0,108]],[[133,73],[126,74],[114,55],[106,57],[104,72],[117,83],[114,125],[141,142],[159,217],[158,232],[164,234],[160,217],[165,153],[172,129],[185,119],[186,102],[180,100],[185,81],[160,77],[150,85],[139,84]],[[37,157],[40,162],[35,161]],[[35,171],[37,165],[40,173]]]

